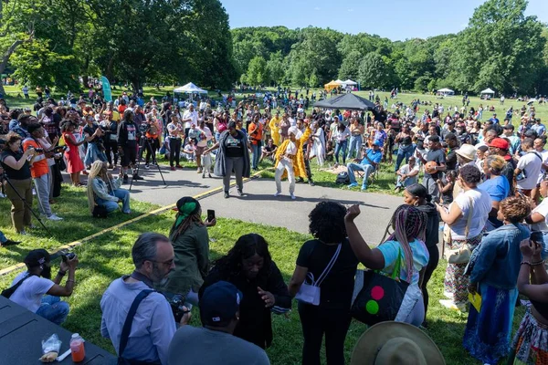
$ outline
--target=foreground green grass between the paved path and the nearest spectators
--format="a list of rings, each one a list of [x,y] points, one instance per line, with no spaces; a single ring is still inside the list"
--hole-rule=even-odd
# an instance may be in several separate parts
[[[71,312],[64,327],[79,332],[85,339],[111,352],[113,348],[109,339],[100,337],[100,297],[112,280],[132,272],[131,248],[137,235],[142,232],[154,231],[167,235],[174,221],[174,212],[146,217],[139,222],[130,224],[120,230],[100,235],[90,242],[75,248],[79,255],[80,266],[77,271],[77,286],[72,297],[68,298]],[[299,253],[300,245],[310,238],[309,235],[290,232],[285,228],[262,224],[249,224],[233,219],[218,218],[217,225],[209,229],[210,250],[213,259],[227,253],[240,235],[258,233],[269,242],[270,253],[279,266],[284,279],[289,281]],[[30,244],[30,243],[29,243]],[[58,266],[58,260],[54,262]],[[55,272],[54,267],[53,271]],[[445,263],[441,262],[430,283],[430,307],[427,319],[429,326],[427,334],[435,340],[443,352],[448,364],[473,364],[473,360],[462,349],[461,341],[466,323],[466,315],[449,312],[438,304],[443,298],[443,277]],[[0,277],[0,287],[7,287],[16,273]],[[193,310],[192,325],[199,326],[199,316]],[[516,311],[514,331],[519,325],[523,309]],[[272,364],[299,364],[302,349],[300,320],[296,308],[289,316],[274,316],[274,341],[268,349]],[[345,357],[350,360],[353,346],[366,327],[356,321],[348,332],[345,343]],[[322,355],[323,356],[323,355]],[[325,361],[323,359],[323,361]]]

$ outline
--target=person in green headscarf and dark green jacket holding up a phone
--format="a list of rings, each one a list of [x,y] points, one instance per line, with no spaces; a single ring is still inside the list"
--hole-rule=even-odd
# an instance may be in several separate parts
[[[202,221],[200,203],[190,196],[179,199],[177,210],[169,233],[174,246],[175,268],[159,289],[183,295],[185,306],[189,307],[198,304],[198,290],[209,272],[207,227],[214,226],[216,220]]]

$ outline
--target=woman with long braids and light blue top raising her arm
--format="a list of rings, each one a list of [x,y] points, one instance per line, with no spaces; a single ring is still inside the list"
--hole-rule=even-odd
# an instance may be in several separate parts
[[[346,233],[354,254],[365,267],[380,270],[385,276],[391,276],[397,262],[401,260],[398,276],[400,280],[410,285],[395,321],[420,326],[425,318],[420,283],[429,259],[425,245],[427,214],[419,211],[415,206],[400,205],[392,216],[394,234],[373,249],[367,245],[354,223],[354,219],[359,214],[360,207],[356,204],[348,209],[344,217]]]

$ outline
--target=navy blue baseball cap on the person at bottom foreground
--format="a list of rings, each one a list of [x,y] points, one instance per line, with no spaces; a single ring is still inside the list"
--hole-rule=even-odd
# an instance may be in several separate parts
[[[205,326],[223,327],[236,317],[244,296],[233,284],[217,281],[200,297],[200,318]]]

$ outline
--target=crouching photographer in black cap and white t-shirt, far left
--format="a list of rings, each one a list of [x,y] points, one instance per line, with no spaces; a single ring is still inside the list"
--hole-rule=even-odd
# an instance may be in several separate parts
[[[38,316],[56,325],[67,319],[68,303],[59,297],[70,297],[75,285],[75,271],[78,256],[63,255],[57,276],[51,280],[51,257],[44,249],[32,250],[25,257],[26,272],[16,276],[12,287],[2,295]],[[63,276],[68,273],[65,286],[61,286]]]

